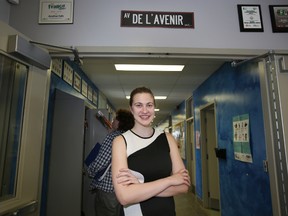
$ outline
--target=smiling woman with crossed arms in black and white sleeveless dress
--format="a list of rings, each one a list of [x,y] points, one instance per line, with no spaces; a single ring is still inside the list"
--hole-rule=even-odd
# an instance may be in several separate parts
[[[130,95],[134,127],[112,144],[112,181],[125,216],[175,216],[173,196],[186,193],[190,186],[177,142],[170,133],[151,126],[154,108],[150,89],[134,89]]]

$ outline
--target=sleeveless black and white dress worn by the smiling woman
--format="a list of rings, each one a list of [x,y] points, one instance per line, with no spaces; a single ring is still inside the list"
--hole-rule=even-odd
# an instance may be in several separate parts
[[[122,134],[127,147],[128,168],[136,171],[142,182],[151,182],[171,175],[172,162],[165,132],[154,129],[151,137],[141,137],[129,130]],[[124,206],[125,216],[175,216],[173,197],[152,197]]]

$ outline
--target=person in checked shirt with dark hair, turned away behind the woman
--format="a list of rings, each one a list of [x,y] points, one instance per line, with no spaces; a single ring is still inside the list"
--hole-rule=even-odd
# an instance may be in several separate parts
[[[112,131],[105,137],[99,154],[87,168],[88,175],[93,178],[90,190],[95,192],[96,216],[119,216],[120,211],[123,210],[114,193],[109,165],[112,158],[112,141],[115,137],[131,129],[133,125],[134,118],[131,112],[124,109],[118,110],[112,121]],[[107,172],[102,174],[102,179],[95,179],[96,173],[103,169],[107,169]]]

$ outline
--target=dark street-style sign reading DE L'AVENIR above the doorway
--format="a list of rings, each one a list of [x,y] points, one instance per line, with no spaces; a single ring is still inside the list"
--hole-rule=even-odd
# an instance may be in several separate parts
[[[121,27],[194,28],[194,13],[123,10]]]

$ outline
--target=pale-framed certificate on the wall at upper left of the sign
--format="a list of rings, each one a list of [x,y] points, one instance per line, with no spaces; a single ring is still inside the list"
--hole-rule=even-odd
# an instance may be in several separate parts
[[[73,23],[73,0],[40,0],[39,24]]]

